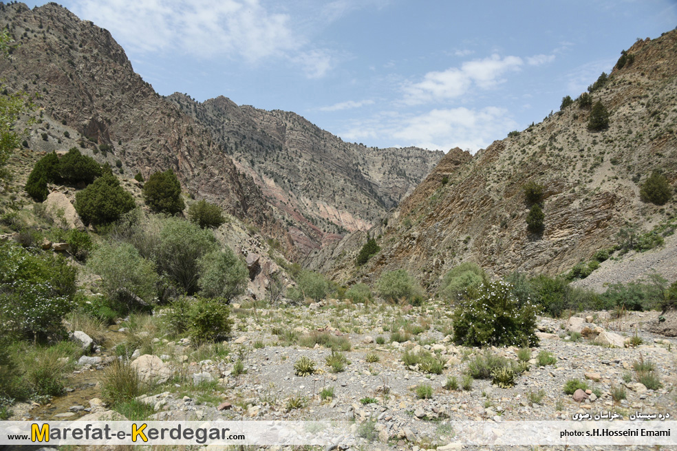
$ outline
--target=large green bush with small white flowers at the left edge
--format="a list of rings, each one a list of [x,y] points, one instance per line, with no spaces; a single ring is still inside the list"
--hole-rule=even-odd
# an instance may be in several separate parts
[[[3,336],[44,340],[65,335],[72,309],[76,268],[51,252],[28,252],[0,242],[0,330]]]

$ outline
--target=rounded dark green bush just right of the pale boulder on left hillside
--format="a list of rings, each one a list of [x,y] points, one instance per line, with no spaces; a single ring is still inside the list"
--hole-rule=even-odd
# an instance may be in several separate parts
[[[135,206],[131,194],[112,174],[105,173],[75,195],[75,209],[85,223],[94,225],[117,221]]]

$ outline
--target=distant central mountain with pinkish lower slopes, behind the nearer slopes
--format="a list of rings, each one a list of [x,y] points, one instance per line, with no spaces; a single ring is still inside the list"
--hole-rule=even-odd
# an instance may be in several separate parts
[[[343,142],[296,113],[238,106],[223,96],[167,98],[211,131],[306,250],[367,230],[409,195],[442,155]]]

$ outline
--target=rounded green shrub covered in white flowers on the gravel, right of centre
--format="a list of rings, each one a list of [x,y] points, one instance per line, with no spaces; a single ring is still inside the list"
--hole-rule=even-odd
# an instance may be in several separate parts
[[[453,312],[453,338],[464,346],[535,346],[539,307],[520,302],[504,281],[469,290]]]

